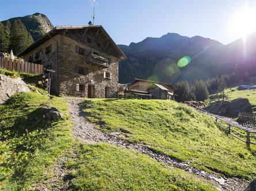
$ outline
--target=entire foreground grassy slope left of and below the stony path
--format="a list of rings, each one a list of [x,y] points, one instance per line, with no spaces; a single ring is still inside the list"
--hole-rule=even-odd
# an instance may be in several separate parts
[[[70,190],[212,190],[208,181],[136,151],[108,143],[78,146],[70,122],[43,119],[45,104],[69,118],[66,101],[32,92],[13,95],[0,106],[0,190],[36,189],[52,177],[52,165],[60,155],[70,158]],[[73,159],[71,146],[77,153]]]

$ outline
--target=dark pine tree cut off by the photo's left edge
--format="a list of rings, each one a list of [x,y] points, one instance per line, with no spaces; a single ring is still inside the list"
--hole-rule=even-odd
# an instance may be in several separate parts
[[[5,25],[0,22],[0,52],[9,52],[10,25],[10,21],[7,21]]]

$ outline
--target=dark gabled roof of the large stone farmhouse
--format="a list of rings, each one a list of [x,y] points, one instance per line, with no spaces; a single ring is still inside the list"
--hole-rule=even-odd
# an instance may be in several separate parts
[[[54,29],[49,31],[47,34],[45,34],[43,37],[39,38],[36,42],[34,42],[32,45],[30,45],[28,48],[26,48],[24,51],[19,53],[17,56],[23,56],[24,54],[30,52],[31,50],[35,49],[40,44],[43,44],[45,41],[49,40],[50,38],[56,36],[60,32],[63,32],[64,30],[74,30],[74,29],[100,29],[100,32],[102,36],[104,36],[106,39],[109,40],[110,46],[114,50],[116,57],[119,57],[120,60],[125,60],[127,57],[124,55],[122,50],[119,48],[119,46],[116,45],[116,43],[112,40],[112,38],[109,36],[109,34],[106,32],[106,30],[101,25],[77,25],[77,26],[55,26]]]

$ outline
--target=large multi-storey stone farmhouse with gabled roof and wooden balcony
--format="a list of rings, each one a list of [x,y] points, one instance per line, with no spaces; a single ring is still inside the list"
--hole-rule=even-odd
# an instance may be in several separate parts
[[[85,98],[117,97],[127,59],[101,25],[56,26],[18,56],[55,71],[51,93]]]

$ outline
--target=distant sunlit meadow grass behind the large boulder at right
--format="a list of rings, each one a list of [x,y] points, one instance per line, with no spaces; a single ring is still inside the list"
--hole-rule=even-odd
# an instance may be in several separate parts
[[[234,100],[237,98],[247,98],[256,112],[256,89],[245,89],[238,90],[238,86],[225,89],[225,93],[228,96],[226,100]],[[210,98],[214,98],[215,94],[211,95]],[[210,102],[216,102],[218,99],[211,99]]]

